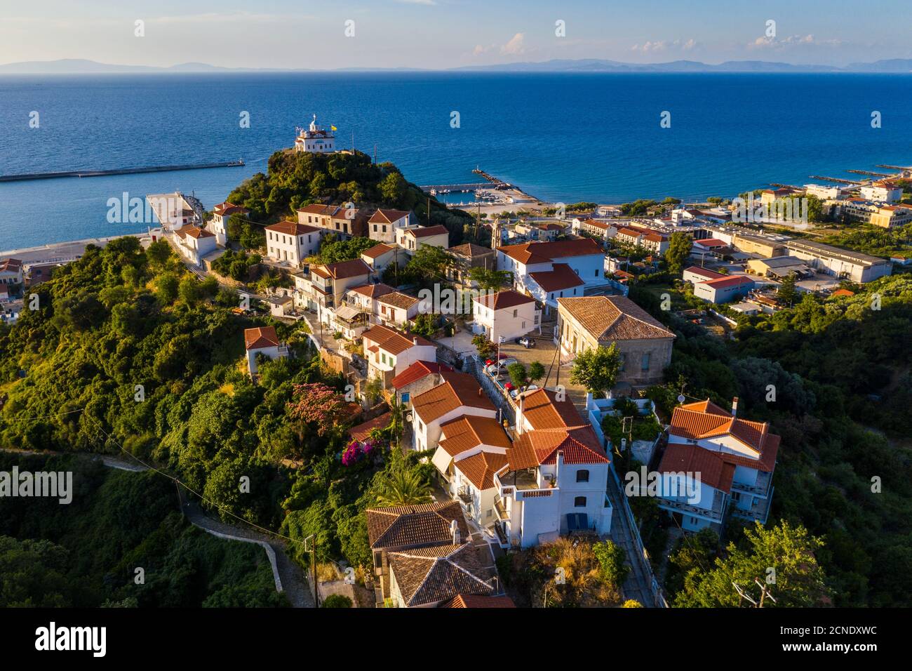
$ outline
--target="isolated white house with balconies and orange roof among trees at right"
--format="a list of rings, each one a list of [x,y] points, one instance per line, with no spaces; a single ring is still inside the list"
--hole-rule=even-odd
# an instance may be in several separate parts
[[[781,438],[737,411],[736,398],[731,413],[707,400],[679,405],[671,415],[658,506],[683,529],[718,530],[730,508],[735,517],[766,523]]]

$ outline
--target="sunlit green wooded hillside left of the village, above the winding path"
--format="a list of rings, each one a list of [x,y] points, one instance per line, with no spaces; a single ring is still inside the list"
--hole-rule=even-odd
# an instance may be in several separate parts
[[[0,447],[123,446],[180,477],[226,521],[247,519],[294,540],[315,534],[321,561],[367,565],[362,511],[384,498],[426,496],[432,467],[391,458],[390,431],[345,463],[346,429],[356,421],[347,404],[332,422],[320,407],[293,412],[303,397],[341,398],[343,380],[321,366],[303,330],[233,314],[233,292],[208,286],[132,237],[89,246],[60,268],[36,288],[40,309],[0,327]],[[258,323],[275,323],[293,356],[262,362],[254,384],[243,330]],[[328,393],[301,391],[315,384]]]

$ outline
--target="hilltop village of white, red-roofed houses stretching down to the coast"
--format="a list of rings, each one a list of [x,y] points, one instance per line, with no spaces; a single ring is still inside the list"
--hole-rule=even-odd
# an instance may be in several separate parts
[[[303,172],[306,183],[295,182]],[[300,446],[335,435],[326,457],[343,475],[326,480],[328,496],[347,501],[334,509],[345,508],[344,524],[362,536],[308,532],[323,549],[307,546],[297,559],[314,569],[317,601],[666,607],[671,592],[686,592],[689,543],[707,560],[722,556],[726,539],[756,549],[764,534],[814,546],[772,510],[798,505],[777,501],[777,467],[819,428],[796,428],[764,404],[780,393],[807,418],[814,394],[828,392],[762,358],[769,352],[751,352],[750,370],[738,359],[733,377],[710,373],[709,360],[750,344],[745,334],[793,328],[781,320],[802,311],[823,323],[851,305],[862,320],[888,303],[894,285],[885,283],[907,281],[912,261],[909,177],[777,186],[704,204],[523,210],[511,195],[482,215],[448,208],[395,166],[337,149],[315,116],[270,159],[268,175],[212,209],[150,194],[161,228],[137,245],[191,278],[175,304],[208,296],[244,322],[230,345],[243,351],[234,363],[244,385],[268,396],[293,383],[287,421],[310,428],[286,436],[297,451],[275,467],[304,477],[323,462]],[[785,204],[791,216],[777,215]],[[858,232],[886,256],[845,244]],[[27,295],[69,277],[67,265],[0,260],[0,301],[18,300],[20,320],[33,323]],[[16,321],[13,309],[5,317]],[[316,372],[293,372],[305,362]],[[880,403],[891,384],[857,393]],[[263,446],[283,421],[261,425]],[[373,484],[340,494],[337,483],[357,469]],[[313,487],[289,494],[316,502],[300,516],[285,508],[280,527],[295,539],[326,528],[308,517],[319,503],[305,491]],[[320,514],[342,529],[336,513]],[[810,563],[814,589],[792,594],[794,604],[832,598],[813,555]],[[529,582],[530,567],[569,575],[549,592],[550,579]]]

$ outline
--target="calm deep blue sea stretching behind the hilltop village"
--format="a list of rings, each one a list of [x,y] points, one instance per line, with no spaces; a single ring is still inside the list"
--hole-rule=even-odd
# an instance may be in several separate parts
[[[244,158],[244,168],[0,183],[0,250],[145,230],[108,199],[223,201],[295,126],[399,165],[415,183],[472,168],[540,198],[731,196],[811,174],[912,164],[912,77],[897,75],[228,74],[0,78],[0,174]],[[30,129],[29,113],[40,114]],[[671,128],[659,115],[671,112]],[[883,126],[871,128],[871,112]],[[240,114],[250,113],[250,128]],[[458,111],[460,128],[451,128]]]

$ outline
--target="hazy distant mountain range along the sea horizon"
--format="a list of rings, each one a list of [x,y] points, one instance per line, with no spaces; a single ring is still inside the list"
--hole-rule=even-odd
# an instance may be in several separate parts
[[[222,68],[207,63],[181,63],[169,68],[143,65],[112,65],[94,60],[64,58],[61,60],[25,61],[0,65],[0,74],[22,75],[72,75],[114,73],[167,73],[167,72],[306,72],[306,68]],[[370,71],[430,71],[422,68],[338,68],[344,72]],[[851,63],[844,68],[828,65],[794,65],[765,60],[728,60],[715,65],[695,60],[673,60],[668,63],[623,63],[600,58],[576,60],[555,59],[537,63],[503,63],[499,65],[474,65],[447,68],[456,72],[869,72],[912,73],[912,58],[891,58],[874,63]]]

